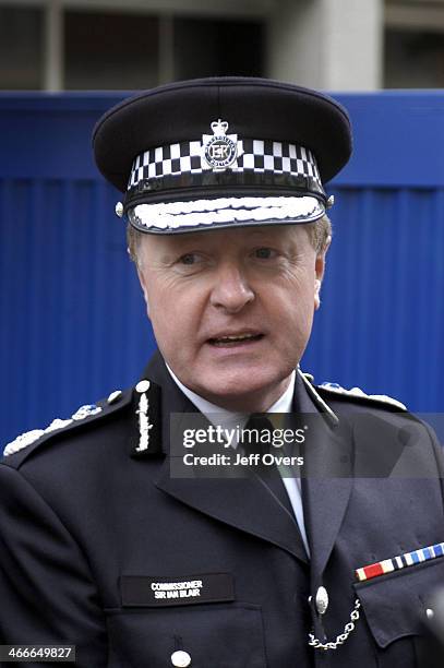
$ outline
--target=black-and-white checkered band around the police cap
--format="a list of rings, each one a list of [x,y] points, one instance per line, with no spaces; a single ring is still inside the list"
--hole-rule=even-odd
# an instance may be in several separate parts
[[[181,142],[151,148],[139,155],[131,169],[128,190],[146,179],[203,174],[213,168],[204,158],[201,141]],[[271,140],[243,139],[238,141],[236,162],[227,168],[230,172],[274,172],[292,177],[310,177],[322,188],[314,155],[309,148]]]

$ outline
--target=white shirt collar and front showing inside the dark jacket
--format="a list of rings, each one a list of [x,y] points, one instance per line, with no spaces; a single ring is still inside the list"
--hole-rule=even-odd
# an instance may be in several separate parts
[[[175,375],[167,365],[167,369],[171,374],[172,380],[183,392],[183,394],[194,404],[194,406],[215,426],[220,426],[224,429],[235,429],[239,426],[242,429],[248,419],[248,413],[232,413],[226,408],[220,408],[205,398],[185,387],[183,383]],[[292,399],[295,394],[296,371],[291,373],[290,383],[284,394],[271,406],[267,413],[291,413]],[[216,424],[215,424],[216,422]],[[237,443],[232,446],[237,448]],[[302,540],[305,546],[307,553],[310,556],[309,541],[307,539],[305,524],[303,521],[302,493],[300,478],[283,477],[283,482],[290,499],[293,509],[295,517],[301,532]]]

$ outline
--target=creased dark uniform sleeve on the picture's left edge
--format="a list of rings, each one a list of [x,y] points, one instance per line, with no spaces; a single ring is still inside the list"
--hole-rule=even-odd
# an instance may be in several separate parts
[[[85,556],[21,473],[0,465],[0,644],[34,643],[76,645],[76,668],[107,665],[105,619]],[[46,664],[20,664],[38,665]]]

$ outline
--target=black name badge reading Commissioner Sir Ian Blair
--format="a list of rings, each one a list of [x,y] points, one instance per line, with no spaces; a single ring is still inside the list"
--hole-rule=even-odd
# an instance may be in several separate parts
[[[231,573],[201,573],[173,577],[122,575],[120,592],[123,607],[189,606],[235,600],[235,582]]]

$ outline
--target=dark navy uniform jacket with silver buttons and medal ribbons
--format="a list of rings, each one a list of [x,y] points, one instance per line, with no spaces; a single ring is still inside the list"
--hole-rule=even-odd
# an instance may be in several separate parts
[[[444,558],[365,582],[355,571],[444,541],[429,429],[298,374],[295,409],[322,425],[304,452],[309,559],[280,478],[281,493],[254,475],[170,476],[170,413],[196,409],[158,356],[146,378],[148,451],[135,454],[130,390],[1,460],[0,644],[74,644],[81,668],[165,668],[177,651],[192,668],[421,666]],[[355,608],[343,644],[309,646],[309,633],[335,642]]]

